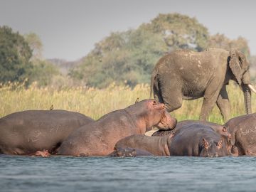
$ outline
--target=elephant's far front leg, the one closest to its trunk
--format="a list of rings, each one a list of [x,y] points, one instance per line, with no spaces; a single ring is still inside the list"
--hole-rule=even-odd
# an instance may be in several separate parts
[[[226,85],[223,85],[223,87],[220,90],[220,95],[218,96],[217,100],[218,108],[220,109],[220,112],[223,116],[223,119],[225,122],[228,121],[230,118],[230,102],[228,99],[228,92],[226,90]]]

